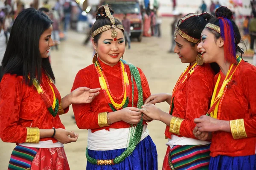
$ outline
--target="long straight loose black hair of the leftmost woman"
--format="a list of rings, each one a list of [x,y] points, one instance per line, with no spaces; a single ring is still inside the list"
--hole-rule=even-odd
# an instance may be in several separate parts
[[[41,81],[44,70],[55,81],[49,58],[42,58],[39,51],[40,37],[51,24],[46,14],[34,8],[20,12],[12,26],[3,57],[4,73],[23,76],[26,84],[32,85],[33,78]]]

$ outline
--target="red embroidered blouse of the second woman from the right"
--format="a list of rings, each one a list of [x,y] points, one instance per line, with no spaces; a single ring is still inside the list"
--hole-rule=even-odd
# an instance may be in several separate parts
[[[197,139],[193,134],[196,126],[194,119],[206,115],[214,90],[214,71],[211,66],[204,64],[197,67],[174,98],[172,116],[184,119],[180,125],[180,135],[169,132],[170,127],[166,126],[166,138],[171,139],[174,134]]]

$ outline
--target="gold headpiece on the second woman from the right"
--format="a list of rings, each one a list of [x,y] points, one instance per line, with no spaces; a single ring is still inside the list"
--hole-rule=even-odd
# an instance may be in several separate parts
[[[202,14],[206,14],[206,12],[201,13],[201,14],[195,14],[195,13],[194,13],[194,14],[189,14],[189,15],[187,15],[187,16],[181,18],[180,21],[179,21],[179,23],[178,23],[178,25],[177,25],[177,27],[176,27],[176,29],[175,29],[175,32],[174,32],[174,34],[173,34],[174,39],[176,39],[177,34],[179,34],[181,37],[183,37],[184,39],[186,39],[186,40],[189,41],[189,42],[193,42],[193,43],[198,43],[198,42],[200,42],[200,39],[197,39],[197,38],[194,38],[194,37],[190,37],[188,34],[186,34],[185,32],[181,31],[181,30],[179,29],[179,26],[180,26],[180,24],[183,23],[186,19],[188,19],[188,18],[190,18],[190,17],[194,17],[194,16],[198,16],[198,17],[199,17],[199,16],[202,15]]]

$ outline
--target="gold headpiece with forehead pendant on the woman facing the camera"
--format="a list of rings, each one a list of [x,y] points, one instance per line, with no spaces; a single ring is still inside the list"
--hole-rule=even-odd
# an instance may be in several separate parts
[[[110,28],[113,28],[113,31],[111,31],[111,37],[116,41],[117,31],[116,31],[115,29],[116,29],[116,28],[119,28],[119,29],[122,29],[122,30],[123,30],[124,27],[123,27],[121,24],[119,24],[119,25],[117,25],[117,26],[115,25],[115,24],[116,24],[115,18],[114,18],[113,15],[111,14],[108,5],[104,5],[103,7],[104,7],[104,9],[105,9],[105,13],[107,14],[106,17],[109,18],[109,20],[111,21],[111,23],[112,23],[113,25],[112,25],[112,26],[106,25],[106,26],[102,26],[102,27],[96,29],[96,30],[93,31],[93,33],[92,33],[92,38],[95,37],[96,35],[102,33],[103,31],[107,31],[107,30],[109,30]],[[101,15],[104,15],[104,14],[101,14]]]

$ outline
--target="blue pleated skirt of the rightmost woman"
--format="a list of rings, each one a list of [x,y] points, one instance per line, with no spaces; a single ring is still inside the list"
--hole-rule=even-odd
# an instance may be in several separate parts
[[[209,170],[256,170],[256,155],[211,157]]]

